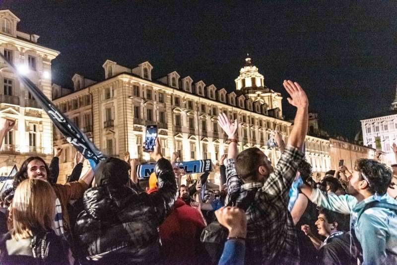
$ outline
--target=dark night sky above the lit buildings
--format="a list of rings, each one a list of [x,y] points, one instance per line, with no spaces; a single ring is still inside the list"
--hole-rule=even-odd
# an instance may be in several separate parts
[[[61,52],[52,74],[64,86],[75,72],[104,78],[102,64],[110,59],[130,67],[149,61],[154,77],[177,70],[232,91],[250,53],[265,85],[282,93],[287,118],[295,111],[282,88],[287,78],[305,88],[326,130],[349,138],[360,119],[392,103],[397,3],[230,2],[0,0],[0,6],[21,19],[20,31]]]

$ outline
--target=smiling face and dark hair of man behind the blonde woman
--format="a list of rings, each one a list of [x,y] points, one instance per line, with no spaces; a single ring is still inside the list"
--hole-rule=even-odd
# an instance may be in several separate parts
[[[13,185],[17,187],[19,183],[26,179],[47,180],[49,174],[50,169],[46,161],[39,156],[31,156],[22,163],[21,168],[15,174]]]

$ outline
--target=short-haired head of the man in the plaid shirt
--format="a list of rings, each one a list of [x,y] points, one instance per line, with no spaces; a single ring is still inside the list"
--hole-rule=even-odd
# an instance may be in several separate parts
[[[244,183],[265,182],[273,167],[264,152],[251,147],[237,155],[236,172]]]

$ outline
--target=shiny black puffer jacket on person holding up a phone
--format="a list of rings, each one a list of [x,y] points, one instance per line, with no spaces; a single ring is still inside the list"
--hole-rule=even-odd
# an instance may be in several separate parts
[[[161,263],[157,227],[171,212],[178,192],[168,160],[160,159],[154,170],[159,190],[150,195],[107,186],[84,193],[84,211],[77,218],[75,234],[89,263]]]

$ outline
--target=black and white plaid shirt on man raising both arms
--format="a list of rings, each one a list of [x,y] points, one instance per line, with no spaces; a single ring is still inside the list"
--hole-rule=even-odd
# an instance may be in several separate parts
[[[288,191],[303,157],[297,148],[286,146],[265,184],[243,184],[236,173],[235,159],[226,160],[226,203],[235,198],[236,205],[241,206],[250,190],[257,190],[255,199],[246,210],[246,264],[299,264],[295,226],[287,206]]]

